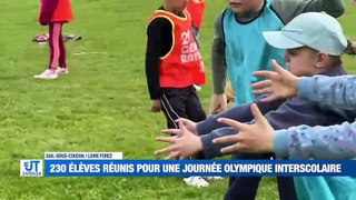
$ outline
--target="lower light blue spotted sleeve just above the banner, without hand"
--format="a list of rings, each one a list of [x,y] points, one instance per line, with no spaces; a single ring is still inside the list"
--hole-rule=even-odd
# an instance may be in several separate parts
[[[279,158],[352,159],[356,157],[356,121],[278,130],[275,131],[274,143]]]

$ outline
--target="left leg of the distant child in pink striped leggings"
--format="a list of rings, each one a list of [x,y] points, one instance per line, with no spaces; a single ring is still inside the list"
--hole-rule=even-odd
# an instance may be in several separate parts
[[[61,28],[62,28],[61,23],[49,24],[49,40],[48,40],[48,44],[50,48],[49,69],[52,71],[56,70],[59,62],[58,61],[60,56],[59,37],[60,37]]]

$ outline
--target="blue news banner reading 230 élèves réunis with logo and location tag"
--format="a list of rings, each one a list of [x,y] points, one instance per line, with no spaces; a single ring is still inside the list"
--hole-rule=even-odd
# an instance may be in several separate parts
[[[356,160],[122,160],[121,152],[47,152],[21,177],[356,177]]]

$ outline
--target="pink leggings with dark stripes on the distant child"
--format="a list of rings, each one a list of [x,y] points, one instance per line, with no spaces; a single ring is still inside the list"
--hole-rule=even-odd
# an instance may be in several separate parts
[[[67,68],[62,26],[62,23],[49,23],[48,46],[50,49],[49,68],[51,70],[55,70],[58,66]]]

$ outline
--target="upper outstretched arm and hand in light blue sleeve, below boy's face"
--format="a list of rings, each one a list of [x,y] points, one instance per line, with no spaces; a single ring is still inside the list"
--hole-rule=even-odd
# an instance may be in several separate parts
[[[273,61],[276,71],[258,71],[255,76],[267,77],[269,80],[253,84],[254,93],[271,93],[261,101],[269,102],[280,98],[298,96],[301,99],[329,104],[343,109],[356,107],[356,77],[303,77],[298,78]]]

